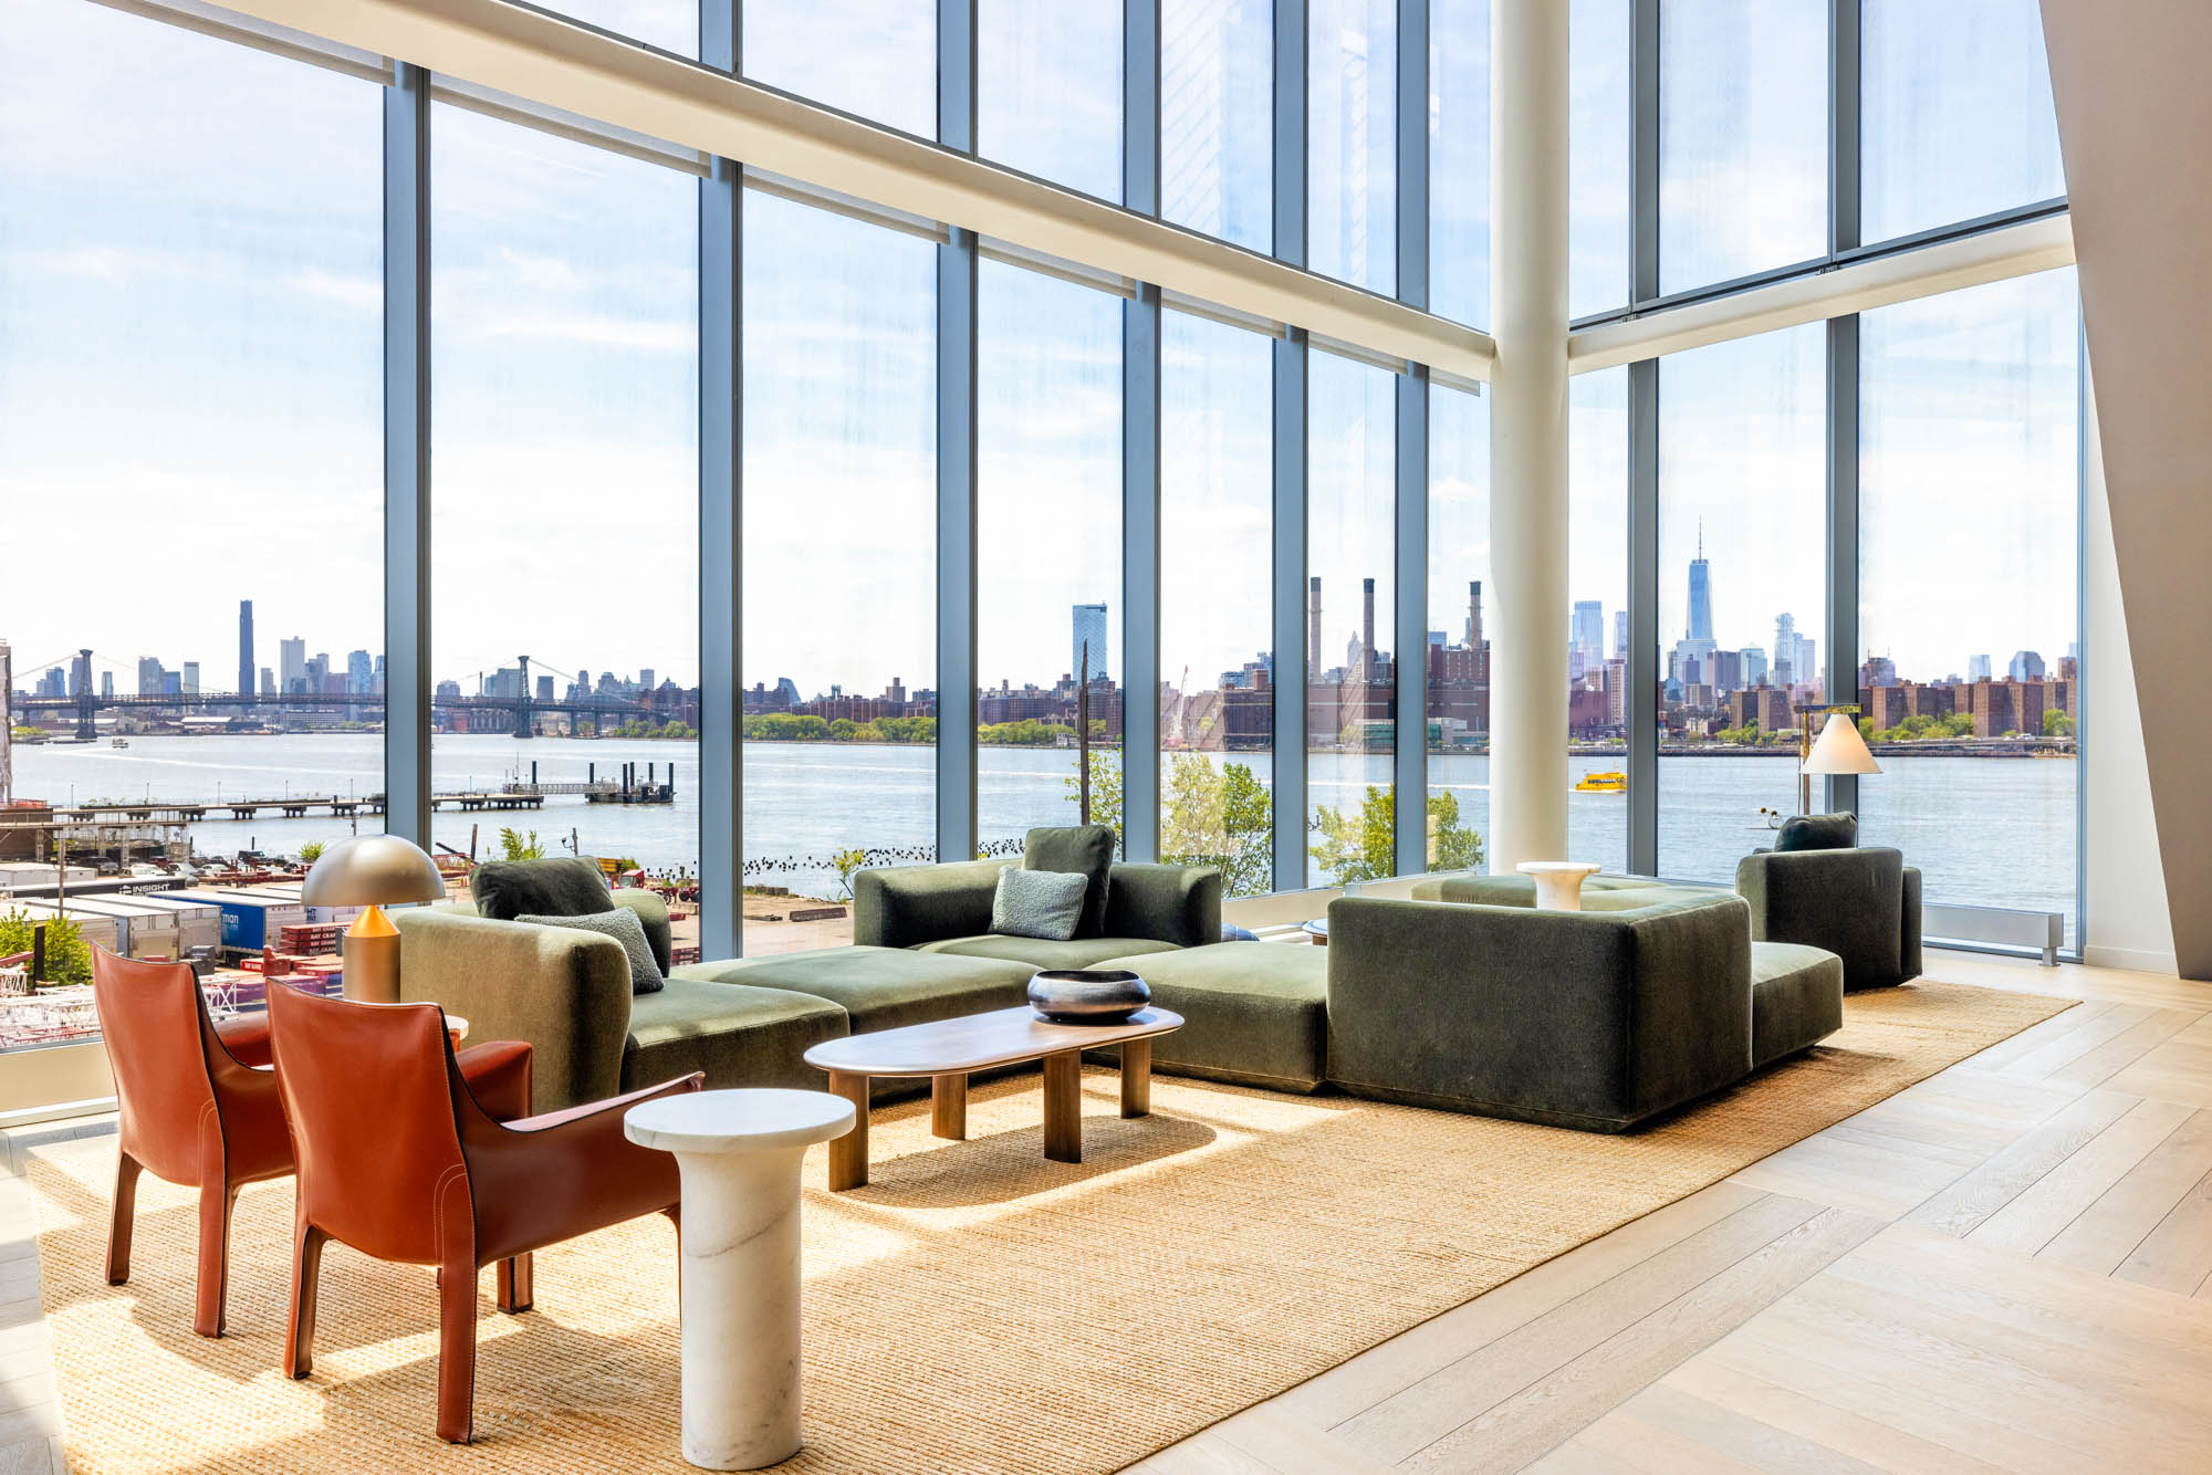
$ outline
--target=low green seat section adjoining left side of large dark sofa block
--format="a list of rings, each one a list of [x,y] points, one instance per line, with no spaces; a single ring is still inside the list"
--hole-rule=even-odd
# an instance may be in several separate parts
[[[1318,1090],[1329,1075],[1329,951],[1214,942],[1113,958],[1141,973],[1183,1028],[1152,1042],[1152,1066],[1272,1090]]]

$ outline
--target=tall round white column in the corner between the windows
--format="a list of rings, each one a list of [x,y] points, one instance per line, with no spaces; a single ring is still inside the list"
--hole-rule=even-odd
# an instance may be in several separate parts
[[[1566,9],[1491,4],[1491,871],[1566,860]]]

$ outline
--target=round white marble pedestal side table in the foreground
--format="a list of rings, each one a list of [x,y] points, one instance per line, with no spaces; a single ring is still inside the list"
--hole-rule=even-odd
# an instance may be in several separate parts
[[[701,1468],[799,1453],[799,1163],[852,1121],[823,1090],[699,1090],[622,1117],[675,1152],[684,1185],[684,1457]]]

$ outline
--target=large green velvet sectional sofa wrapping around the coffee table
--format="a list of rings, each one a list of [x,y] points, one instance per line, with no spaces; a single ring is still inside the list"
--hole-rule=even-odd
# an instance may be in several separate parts
[[[1040,831],[1033,858],[1051,860],[1062,836],[1060,856],[1102,854],[1097,834]],[[1079,935],[1042,942],[989,933],[998,869],[863,871],[854,946],[684,964],[635,997],[604,933],[405,911],[403,993],[465,1015],[473,1039],[529,1039],[538,1110],[690,1070],[708,1086],[821,1086],[810,1046],[1020,1006],[1046,966],[1141,973],[1186,1019],[1152,1046],[1166,1075],[1599,1132],[1644,1126],[1843,1024],[1843,962],[1754,942],[1750,904],[1725,891],[1593,878],[1588,909],[1562,913],[1537,911],[1522,876],[1427,878],[1418,900],[1332,902],[1323,949],[1219,942],[1210,869],[1110,865]],[[637,911],[666,958],[659,900],[608,900]]]

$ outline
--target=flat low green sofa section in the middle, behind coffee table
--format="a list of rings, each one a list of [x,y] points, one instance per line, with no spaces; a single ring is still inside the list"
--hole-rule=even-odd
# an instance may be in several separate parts
[[[1035,969],[1020,962],[945,958],[889,946],[825,946],[812,953],[692,962],[677,969],[677,977],[684,980],[785,988],[827,1000],[845,1011],[854,1035],[1013,1008],[1029,1000],[1033,973]],[[821,1086],[821,1073],[814,1084]]]

